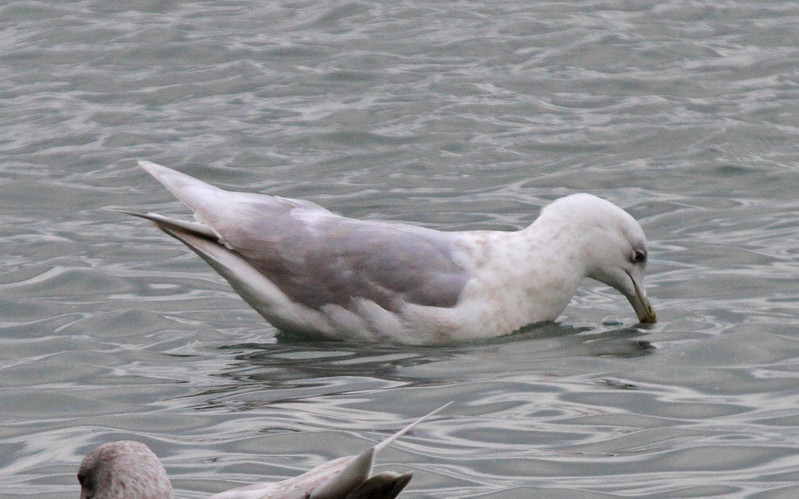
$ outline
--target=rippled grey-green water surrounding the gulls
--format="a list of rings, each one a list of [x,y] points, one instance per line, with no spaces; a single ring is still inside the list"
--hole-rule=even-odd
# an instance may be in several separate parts
[[[403,497],[799,494],[795,2],[0,6],[0,497],[77,497],[136,438],[178,497],[358,452]],[[419,348],[282,337],[114,209],[135,166],[439,229],[590,191],[644,226],[660,322]]]

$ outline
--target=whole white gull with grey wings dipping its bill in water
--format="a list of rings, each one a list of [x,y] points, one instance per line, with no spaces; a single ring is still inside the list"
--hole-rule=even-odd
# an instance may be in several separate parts
[[[585,277],[620,291],[640,322],[656,321],[643,229],[591,194],[555,200],[522,230],[446,232],[139,165],[196,221],[131,214],[194,250],[284,331],[411,344],[491,338],[554,320]]]

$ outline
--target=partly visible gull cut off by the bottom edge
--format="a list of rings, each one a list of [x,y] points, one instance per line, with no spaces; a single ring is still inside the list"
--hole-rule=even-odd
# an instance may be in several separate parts
[[[385,471],[372,475],[375,454],[450,403],[422,416],[357,456],[334,459],[281,482],[238,487],[208,499],[392,499],[411,481],[413,474]],[[158,457],[145,444],[132,440],[110,442],[94,448],[80,464],[78,482],[81,499],[175,497]]]

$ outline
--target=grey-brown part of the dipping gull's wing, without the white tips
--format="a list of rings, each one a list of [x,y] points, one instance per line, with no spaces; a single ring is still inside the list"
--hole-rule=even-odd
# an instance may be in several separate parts
[[[454,244],[436,231],[353,220],[306,208],[252,206],[257,216],[212,227],[293,300],[348,307],[356,298],[386,310],[402,302],[452,307],[468,277]]]

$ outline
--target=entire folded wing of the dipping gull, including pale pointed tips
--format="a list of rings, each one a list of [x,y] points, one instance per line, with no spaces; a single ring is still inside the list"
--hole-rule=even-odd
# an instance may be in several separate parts
[[[197,223],[140,216],[175,237],[223,246],[305,307],[350,308],[357,299],[389,311],[406,303],[453,307],[468,280],[450,234],[345,218],[309,201],[229,192],[155,163],[140,165],[194,211]]]

